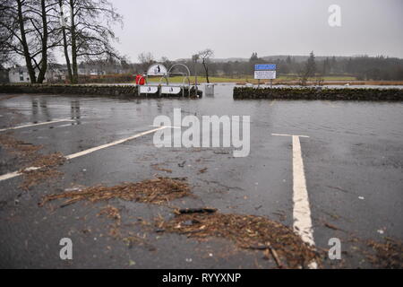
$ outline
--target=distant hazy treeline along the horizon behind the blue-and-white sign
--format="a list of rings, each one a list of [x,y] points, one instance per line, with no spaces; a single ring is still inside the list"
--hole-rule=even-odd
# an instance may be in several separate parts
[[[249,60],[214,61],[213,51],[208,48],[195,55],[192,59],[180,60],[187,65],[194,74],[195,63],[201,63],[207,79],[213,76],[228,76],[241,78],[253,74],[256,64],[277,64],[279,75],[295,77],[304,85],[308,79],[316,78],[319,82],[325,76],[355,76],[357,80],[403,80],[403,59],[394,57],[315,57],[311,52],[308,57],[258,57],[253,53]],[[145,71],[147,67],[156,63],[150,53],[139,56],[140,64],[133,64],[133,72]],[[159,63],[170,66],[174,62],[162,57]],[[140,67],[140,66],[141,67]],[[126,66],[129,66],[128,64]],[[209,81],[209,80],[208,80]]]

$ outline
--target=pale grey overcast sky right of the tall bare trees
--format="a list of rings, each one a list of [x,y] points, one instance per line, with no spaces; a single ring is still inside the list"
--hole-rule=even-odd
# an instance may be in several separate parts
[[[124,15],[117,48],[132,61],[270,55],[403,57],[403,0],[110,0]],[[330,4],[341,27],[328,24]]]

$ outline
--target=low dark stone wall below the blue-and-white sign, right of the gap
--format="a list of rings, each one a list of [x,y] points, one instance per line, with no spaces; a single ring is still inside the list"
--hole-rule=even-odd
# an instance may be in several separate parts
[[[328,89],[236,87],[234,99],[268,100],[403,100],[403,89]]]

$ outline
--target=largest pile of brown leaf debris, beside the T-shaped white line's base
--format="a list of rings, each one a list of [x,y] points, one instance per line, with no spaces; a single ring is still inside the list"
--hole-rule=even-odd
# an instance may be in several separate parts
[[[287,226],[268,218],[244,214],[183,213],[169,221],[156,219],[155,227],[168,233],[187,235],[188,238],[223,238],[236,243],[239,248],[263,250],[265,257],[273,257],[282,268],[305,268],[313,261],[318,262],[319,253],[306,244]],[[281,258],[281,259],[280,259]]]

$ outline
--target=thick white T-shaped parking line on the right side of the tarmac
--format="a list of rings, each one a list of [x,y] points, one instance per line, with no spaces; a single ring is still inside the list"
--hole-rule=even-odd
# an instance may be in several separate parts
[[[277,136],[292,136],[293,139],[293,229],[301,239],[311,246],[315,246],[313,239],[313,227],[311,219],[311,207],[309,204],[308,190],[304,173],[304,161],[301,152],[300,137],[309,137],[307,135],[285,135],[271,134]],[[308,267],[317,268],[316,262],[311,262]]]

